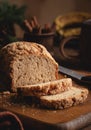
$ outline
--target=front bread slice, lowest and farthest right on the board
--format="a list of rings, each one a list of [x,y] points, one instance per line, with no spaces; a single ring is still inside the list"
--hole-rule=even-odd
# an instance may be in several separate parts
[[[41,96],[40,104],[51,109],[64,109],[83,103],[87,95],[87,89],[71,87],[70,90],[60,94]]]

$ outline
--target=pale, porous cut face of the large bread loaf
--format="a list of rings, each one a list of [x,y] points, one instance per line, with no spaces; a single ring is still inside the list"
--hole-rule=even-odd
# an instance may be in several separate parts
[[[21,56],[13,63],[13,84],[18,86],[45,83],[56,79],[55,65],[45,57]]]

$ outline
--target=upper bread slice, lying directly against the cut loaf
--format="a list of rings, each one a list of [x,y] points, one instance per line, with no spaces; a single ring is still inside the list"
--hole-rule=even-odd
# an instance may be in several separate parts
[[[51,82],[40,83],[35,85],[18,86],[18,93],[24,96],[42,96],[42,95],[54,95],[66,90],[71,89],[72,79],[63,78]]]

